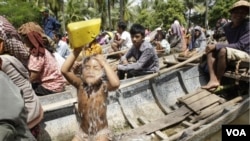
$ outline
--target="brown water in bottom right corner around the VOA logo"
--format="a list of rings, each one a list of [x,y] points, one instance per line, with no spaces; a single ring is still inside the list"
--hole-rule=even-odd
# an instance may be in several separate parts
[[[246,111],[243,115],[232,121],[230,124],[250,124],[250,113],[249,110]],[[215,134],[211,135],[210,137],[206,138],[204,141],[221,141],[221,131],[216,132]]]

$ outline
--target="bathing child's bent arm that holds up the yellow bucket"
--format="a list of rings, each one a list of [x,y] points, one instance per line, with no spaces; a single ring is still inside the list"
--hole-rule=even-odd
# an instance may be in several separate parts
[[[76,58],[78,57],[78,55],[80,54],[80,52],[82,51],[82,48],[75,48],[71,54],[67,57],[67,59],[65,60],[65,62],[62,65],[61,68],[61,72],[63,74],[63,76],[66,78],[66,80],[73,86],[75,86],[76,88],[79,87],[79,85],[81,84],[81,79],[79,77],[77,77],[71,70]]]

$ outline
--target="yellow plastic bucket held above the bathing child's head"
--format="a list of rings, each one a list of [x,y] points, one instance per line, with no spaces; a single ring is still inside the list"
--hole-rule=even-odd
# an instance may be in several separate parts
[[[101,19],[69,23],[68,38],[71,48],[82,47],[95,39],[100,33]]]

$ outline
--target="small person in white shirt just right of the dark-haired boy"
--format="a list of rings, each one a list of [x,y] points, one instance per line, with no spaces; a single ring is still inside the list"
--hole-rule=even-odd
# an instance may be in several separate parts
[[[157,38],[153,41],[155,45],[155,49],[158,55],[166,55],[170,53],[170,44],[165,38],[165,34],[163,32],[159,32],[156,36]]]

